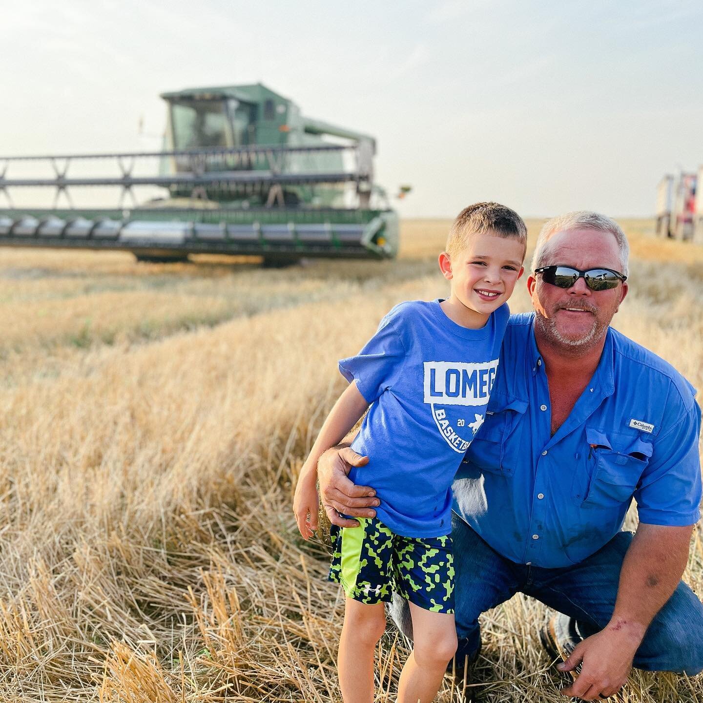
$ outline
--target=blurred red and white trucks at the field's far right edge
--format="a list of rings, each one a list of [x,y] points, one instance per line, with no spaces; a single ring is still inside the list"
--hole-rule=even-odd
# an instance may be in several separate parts
[[[657,188],[657,236],[703,244],[703,166],[698,174],[666,175]]]

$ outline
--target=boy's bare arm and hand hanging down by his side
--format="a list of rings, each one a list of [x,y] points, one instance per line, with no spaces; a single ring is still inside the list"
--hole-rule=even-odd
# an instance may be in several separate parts
[[[317,529],[318,496],[316,489],[317,462],[323,452],[339,444],[349,430],[359,422],[359,418],[368,408],[368,402],[352,381],[339,397],[322,425],[315,444],[302,466],[295,486],[293,512],[300,534],[304,539],[312,536]]]

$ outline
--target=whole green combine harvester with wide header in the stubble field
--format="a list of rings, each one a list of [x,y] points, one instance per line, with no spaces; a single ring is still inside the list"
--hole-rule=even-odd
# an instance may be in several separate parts
[[[0,157],[0,245],[127,250],[152,261],[254,254],[273,266],[394,257],[398,218],[373,183],[373,137],[304,117],[262,84],[161,97],[161,151]],[[53,191],[51,208],[13,203],[11,193],[41,189]],[[76,191],[90,202],[75,205]],[[136,191],[151,198],[138,204]]]

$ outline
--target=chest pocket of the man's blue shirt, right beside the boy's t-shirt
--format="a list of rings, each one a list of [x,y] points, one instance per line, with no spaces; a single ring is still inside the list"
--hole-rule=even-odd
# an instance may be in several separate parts
[[[467,452],[469,462],[484,472],[512,476],[515,466],[508,460],[505,442],[526,410],[526,401],[491,394],[484,423]]]

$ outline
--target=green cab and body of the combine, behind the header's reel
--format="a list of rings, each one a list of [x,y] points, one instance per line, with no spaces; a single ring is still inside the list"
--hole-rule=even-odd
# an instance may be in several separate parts
[[[168,105],[165,150],[188,152],[202,148],[237,150],[231,157],[209,160],[210,171],[276,172],[308,174],[307,183],[231,184],[223,190],[217,183],[205,188],[211,200],[245,207],[264,205],[315,205],[340,207],[344,195],[349,200],[351,170],[342,148],[308,150],[330,145],[327,137],[337,138],[330,146],[346,146],[356,150],[356,181],[359,207],[368,208],[373,183],[375,140],[366,134],[336,127],[319,120],[310,120],[288,98],[261,84],[224,88],[188,89],[162,93]],[[276,157],[269,151],[252,151],[246,147],[277,148]],[[347,163],[345,163],[345,161]],[[193,168],[188,155],[168,157],[162,162],[162,174],[188,174]],[[326,181],[330,179],[330,181]],[[338,180],[337,180],[338,179]],[[313,187],[314,186],[314,187]],[[377,188],[377,192],[382,191]],[[183,188],[172,186],[172,195],[188,195]],[[346,204],[350,204],[347,202]]]

